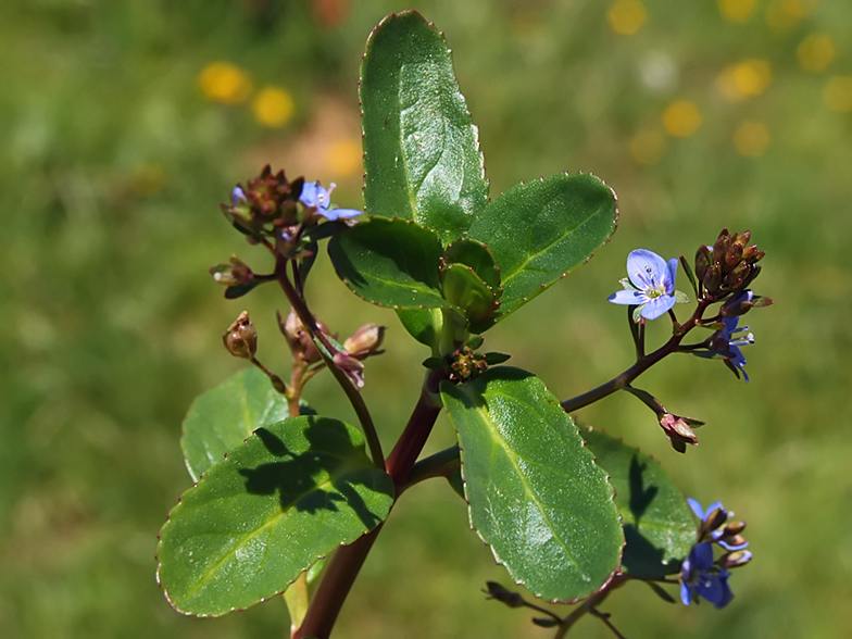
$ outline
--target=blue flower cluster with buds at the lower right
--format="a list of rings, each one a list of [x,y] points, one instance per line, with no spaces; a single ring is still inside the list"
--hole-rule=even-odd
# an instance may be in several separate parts
[[[687,501],[701,522],[698,542],[680,567],[680,600],[689,605],[701,598],[716,607],[725,607],[734,599],[728,586],[729,568],[746,565],[752,556],[746,550],[749,542],[741,535],[746,524],[728,522],[732,513],[726,511],[722,502],[712,503],[704,511],[694,499]],[[714,543],[727,551],[718,559],[714,559]]]

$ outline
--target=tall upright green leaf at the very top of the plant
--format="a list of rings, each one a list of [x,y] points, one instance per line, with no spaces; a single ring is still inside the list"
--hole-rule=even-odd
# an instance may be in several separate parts
[[[414,11],[383,20],[360,96],[367,213],[413,220],[444,243],[462,235],[488,205],[488,181],[441,33]]]

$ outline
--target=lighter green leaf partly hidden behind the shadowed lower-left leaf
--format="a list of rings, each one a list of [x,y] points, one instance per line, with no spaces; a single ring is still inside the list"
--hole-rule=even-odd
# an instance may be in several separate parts
[[[287,400],[254,367],[240,371],[196,398],[184,419],[186,465],[192,481],[261,426],[289,416]]]

